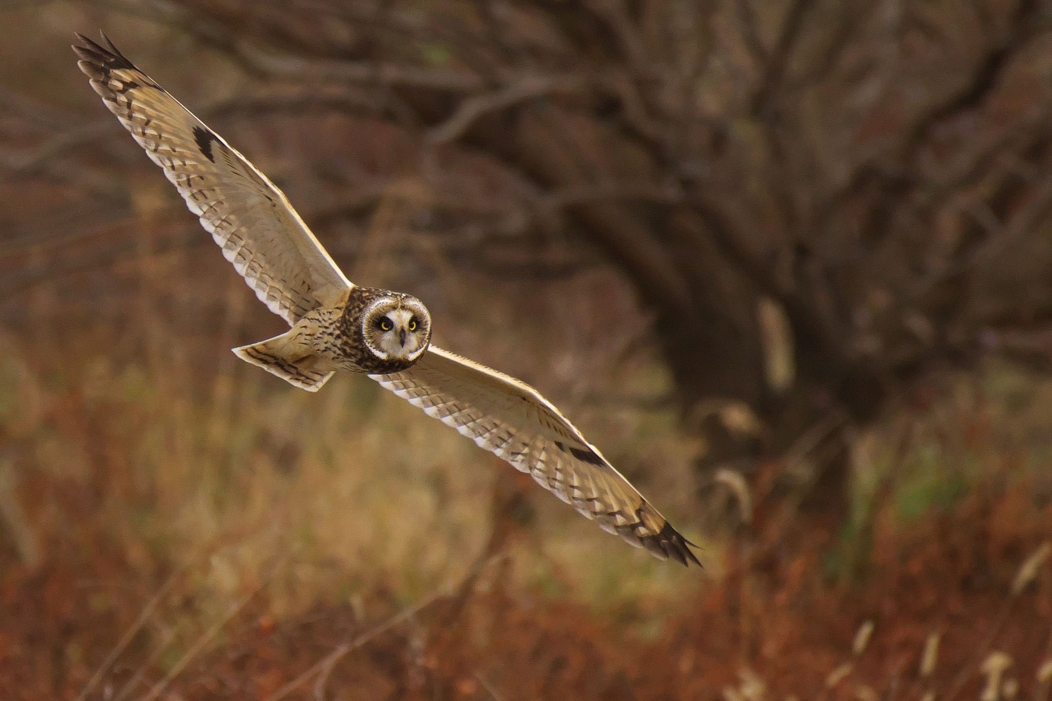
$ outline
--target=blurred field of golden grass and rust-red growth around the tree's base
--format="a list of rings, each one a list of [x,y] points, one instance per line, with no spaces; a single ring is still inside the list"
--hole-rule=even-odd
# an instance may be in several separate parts
[[[66,32],[60,4],[36,30]],[[78,28],[98,23],[77,7]],[[177,86],[202,102],[229,77],[205,60],[207,84]],[[267,135],[302,147],[317,124],[260,122],[246,138],[284,174]],[[132,219],[81,238],[48,218],[60,184],[0,181],[19,204],[0,224],[49,236],[0,249],[0,282],[73,270],[0,300],[3,698],[1049,698],[1047,378],[948,378],[859,436],[843,533],[787,512],[767,493],[781,466],[756,466],[735,482],[750,523],[704,541],[699,574],[365,378],[310,395],[238,362],[230,347],[280,321],[134,144],[103,150],[96,174]],[[701,541],[704,446],[653,400],[668,377],[623,281],[601,265],[555,282],[454,270],[407,224],[427,192],[385,183],[366,230],[322,233],[352,277],[425,298],[440,345],[541,387]],[[93,236],[128,250],[82,265]],[[992,684],[996,653],[1011,665]]]

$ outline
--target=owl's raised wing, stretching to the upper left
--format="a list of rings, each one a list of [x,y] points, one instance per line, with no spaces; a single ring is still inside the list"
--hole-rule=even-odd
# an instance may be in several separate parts
[[[77,35],[77,65],[256,295],[295,324],[353,287],[274,183],[121,55]]]

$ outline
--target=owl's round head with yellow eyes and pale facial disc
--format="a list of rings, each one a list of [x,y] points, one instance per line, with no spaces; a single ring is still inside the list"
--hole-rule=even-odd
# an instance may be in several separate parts
[[[431,314],[414,296],[381,296],[362,314],[362,338],[382,360],[416,360],[431,341]]]

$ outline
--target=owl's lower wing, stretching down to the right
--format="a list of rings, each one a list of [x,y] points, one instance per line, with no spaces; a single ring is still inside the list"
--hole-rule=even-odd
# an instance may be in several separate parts
[[[434,346],[408,370],[369,377],[528,472],[605,531],[661,559],[700,564],[690,543],[528,385]]]

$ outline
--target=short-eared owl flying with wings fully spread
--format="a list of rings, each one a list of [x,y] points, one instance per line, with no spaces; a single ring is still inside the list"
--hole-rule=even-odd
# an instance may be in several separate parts
[[[430,345],[431,316],[402,292],[348,281],[285,195],[113,42],[77,35],[92,87],[164,169],[257,296],[291,327],[242,359],[316,392],[364,373],[457,429],[605,531],[661,559],[700,564],[656,509],[533,388]]]

